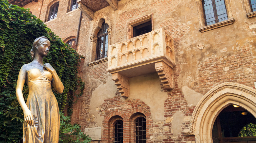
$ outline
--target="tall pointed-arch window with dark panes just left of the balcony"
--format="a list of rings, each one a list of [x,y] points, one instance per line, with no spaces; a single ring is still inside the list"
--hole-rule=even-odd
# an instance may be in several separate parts
[[[95,60],[107,57],[108,52],[108,24],[102,24],[101,29],[97,34],[96,58]]]

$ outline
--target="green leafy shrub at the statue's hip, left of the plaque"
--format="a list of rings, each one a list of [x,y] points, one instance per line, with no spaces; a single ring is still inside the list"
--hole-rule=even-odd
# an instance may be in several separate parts
[[[63,143],[89,143],[91,142],[91,137],[84,134],[79,126],[79,124],[71,124],[70,116],[64,116],[64,113],[60,111],[60,133],[59,141]]]

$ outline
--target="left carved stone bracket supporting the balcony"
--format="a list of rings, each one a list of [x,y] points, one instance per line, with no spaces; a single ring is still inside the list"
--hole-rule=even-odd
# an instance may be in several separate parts
[[[129,85],[129,78],[116,72],[112,74],[112,80],[115,81],[115,85],[117,89],[121,93],[123,98],[129,97],[130,94],[130,85]]]

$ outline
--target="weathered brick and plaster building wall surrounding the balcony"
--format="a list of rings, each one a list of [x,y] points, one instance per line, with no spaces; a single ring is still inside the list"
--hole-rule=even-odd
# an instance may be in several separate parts
[[[25,8],[44,21],[49,5],[54,2],[38,0]],[[80,10],[67,13],[69,3],[61,0],[57,18],[45,23],[63,40],[76,37],[79,22]],[[183,131],[189,129],[191,115],[203,95],[223,82],[248,87],[254,87],[256,82],[256,17],[247,18],[240,1],[229,0],[229,4],[234,23],[206,32],[199,31],[201,13],[194,0],[121,0],[116,11],[110,6],[98,10],[92,21],[83,14],[77,52],[85,57],[79,73],[85,91],[74,105],[72,121],[78,122],[82,129],[102,126],[100,142],[112,142],[111,120],[121,117],[124,135],[130,136],[124,141],[133,142],[130,119],[134,113],[143,111],[147,142],[193,143],[195,136],[185,136]],[[111,23],[109,45],[127,40],[128,23],[149,14],[153,15],[153,29],[164,28],[174,40],[175,87],[163,90],[157,72],[142,75],[130,79],[131,95],[124,99],[106,71],[107,61],[88,66],[90,37],[99,19],[107,17],[105,20]]]

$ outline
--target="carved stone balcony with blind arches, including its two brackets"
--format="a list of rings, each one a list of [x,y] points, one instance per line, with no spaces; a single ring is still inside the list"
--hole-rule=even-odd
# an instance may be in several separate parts
[[[109,45],[108,69],[121,96],[129,96],[129,78],[158,72],[163,89],[174,88],[172,38],[162,28]]]

